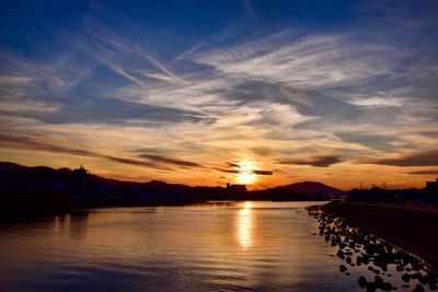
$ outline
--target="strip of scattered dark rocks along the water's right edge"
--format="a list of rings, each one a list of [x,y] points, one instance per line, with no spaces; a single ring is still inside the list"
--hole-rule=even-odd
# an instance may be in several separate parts
[[[308,208],[309,215],[319,222],[319,235],[337,247],[336,256],[343,260],[339,272],[360,275],[357,279],[360,288],[415,292],[438,289],[436,267],[320,208]]]

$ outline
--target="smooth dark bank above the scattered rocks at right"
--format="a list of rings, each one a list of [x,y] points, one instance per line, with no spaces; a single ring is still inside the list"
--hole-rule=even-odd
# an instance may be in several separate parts
[[[325,213],[345,218],[438,265],[438,212],[392,206],[330,202]]]

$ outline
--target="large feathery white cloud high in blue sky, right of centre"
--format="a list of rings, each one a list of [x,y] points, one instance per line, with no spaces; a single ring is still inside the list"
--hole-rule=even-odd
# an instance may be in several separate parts
[[[393,51],[391,47],[364,47],[351,35],[298,37],[286,31],[231,48],[197,52],[193,60],[228,74],[322,89],[390,73],[391,62],[383,56]]]

